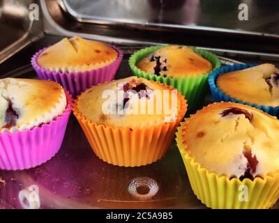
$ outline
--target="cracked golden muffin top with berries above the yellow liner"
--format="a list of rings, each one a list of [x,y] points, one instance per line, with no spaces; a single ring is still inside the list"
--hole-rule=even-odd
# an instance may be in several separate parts
[[[182,137],[195,162],[218,175],[253,179],[279,169],[279,121],[246,105],[204,107],[186,121]]]

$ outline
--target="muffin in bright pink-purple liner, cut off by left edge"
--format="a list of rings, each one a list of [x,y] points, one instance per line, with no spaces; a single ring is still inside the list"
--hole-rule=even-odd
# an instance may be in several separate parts
[[[55,82],[14,78],[0,79],[0,91],[0,169],[29,169],[50,160],[66,131],[70,93]]]

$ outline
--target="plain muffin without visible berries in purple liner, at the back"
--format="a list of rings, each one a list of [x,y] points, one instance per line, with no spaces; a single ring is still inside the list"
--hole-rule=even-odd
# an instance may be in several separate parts
[[[91,86],[114,79],[123,52],[105,43],[79,37],[63,38],[33,55],[31,64],[40,79],[50,79],[73,98]]]

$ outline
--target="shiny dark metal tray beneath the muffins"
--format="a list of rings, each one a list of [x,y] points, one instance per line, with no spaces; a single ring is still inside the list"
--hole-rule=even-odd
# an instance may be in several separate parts
[[[31,56],[60,39],[45,36],[29,45],[0,65],[0,77],[36,78]],[[118,47],[124,57],[116,79],[130,76],[128,58],[144,46]],[[223,64],[241,63],[237,59],[255,62],[251,57],[221,59]],[[209,102],[208,93],[204,104]],[[37,208],[206,208],[191,190],[175,142],[156,163],[116,167],[96,157],[73,114],[61,150],[52,160],[26,171],[0,171],[0,208],[31,208],[31,188],[40,198]]]

